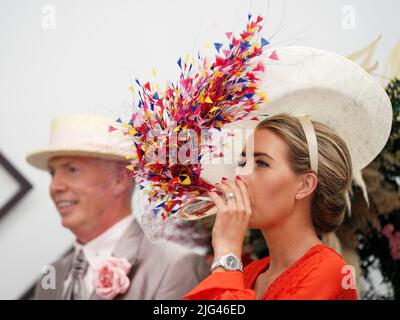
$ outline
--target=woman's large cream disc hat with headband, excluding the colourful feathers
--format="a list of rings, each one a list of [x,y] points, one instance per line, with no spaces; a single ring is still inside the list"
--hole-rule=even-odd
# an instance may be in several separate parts
[[[296,116],[306,134],[311,169],[315,172],[318,144],[310,120],[326,124],[346,142],[353,175],[360,179],[360,170],[381,152],[390,135],[393,115],[385,90],[359,65],[337,54],[307,47],[274,51],[276,59],[266,61],[262,82],[269,102],[257,111],[259,120],[281,113]],[[254,129],[258,123],[238,121],[229,128]],[[234,139],[227,139],[225,150],[233,148],[233,144]],[[205,163],[202,178],[216,183],[223,176],[234,176],[234,161],[221,161],[223,164]],[[213,208],[205,215],[215,211]]]

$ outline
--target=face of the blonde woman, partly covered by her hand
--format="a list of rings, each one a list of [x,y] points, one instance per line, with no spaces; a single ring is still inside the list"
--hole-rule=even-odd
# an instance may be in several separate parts
[[[288,154],[285,141],[268,129],[255,130],[254,157],[242,154],[240,177],[253,210],[250,228],[272,227],[293,212],[301,177],[290,168]]]

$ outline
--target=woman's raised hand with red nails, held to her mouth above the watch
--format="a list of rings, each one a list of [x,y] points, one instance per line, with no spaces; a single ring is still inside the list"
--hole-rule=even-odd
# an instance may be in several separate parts
[[[214,256],[217,258],[232,252],[240,259],[252,213],[247,186],[237,176],[235,182],[223,178],[222,184],[218,183],[215,187],[225,196],[232,195],[233,197],[231,199],[228,197],[226,201],[216,192],[209,192],[218,210],[212,231]]]

